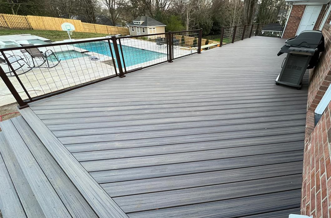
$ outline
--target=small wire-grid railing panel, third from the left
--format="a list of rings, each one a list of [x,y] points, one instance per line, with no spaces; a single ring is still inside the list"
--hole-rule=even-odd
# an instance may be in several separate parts
[[[199,30],[171,32],[172,59],[198,53]]]

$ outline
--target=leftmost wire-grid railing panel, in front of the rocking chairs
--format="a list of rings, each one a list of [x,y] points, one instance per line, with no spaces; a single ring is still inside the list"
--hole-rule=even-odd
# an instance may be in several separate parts
[[[23,100],[117,75],[108,40],[22,46],[1,53],[10,63],[5,72]]]

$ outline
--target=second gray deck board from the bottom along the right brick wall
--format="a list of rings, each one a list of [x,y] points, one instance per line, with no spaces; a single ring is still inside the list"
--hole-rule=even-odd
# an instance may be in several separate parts
[[[221,200],[181,207],[129,213],[130,218],[149,217],[214,217],[230,218],[244,214],[266,213],[273,210],[285,210],[300,206],[301,190],[257,195],[246,198]],[[240,209],[242,208],[242,210]],[[244,211],[243,211],[244,210]],[[287,216],[288,217],[288,216]]]

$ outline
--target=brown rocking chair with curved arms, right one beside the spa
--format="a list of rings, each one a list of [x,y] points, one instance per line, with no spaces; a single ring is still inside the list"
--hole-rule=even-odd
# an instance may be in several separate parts
[[[21,46],[31,46],[30,44],[21,44]],[[24,49],[24,48],[23,48]],[[52,67],[55,67],[57,66],[61,59],[59,59],[52,50],[47,50],[45,52],[41,52],[39,51],[38,48],[30,48],[30,49],[24,49],[24,50],[21,50],[21,52],[23,53],[23,55],[25,56],[25,53],[28,53],[31,57],[31,60],[32,60],[32,63],[33,63],[33,67],[39,67],[39,68],[52,68]],[[50,66],[49,65],[49,57],[53,55],[55,57],[55,59],[57,60],[57,63],[54,64],[53,66]],[[40,59],[42,61],[41,64],[37,65],[35,64],[35,59]],[[47,64],[47,67],[41,67],[44,63]],[[31,66],[30,66],[31,67]],[[31,67],[31,68],[33,68]]]

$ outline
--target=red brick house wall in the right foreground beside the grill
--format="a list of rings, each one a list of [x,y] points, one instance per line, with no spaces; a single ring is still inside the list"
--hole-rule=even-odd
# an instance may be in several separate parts
[[[325,52],[309,73],[301,214],[331,218],[331,102],[314,127],[314,110],[331,83],[331,28],[322,32]]]

